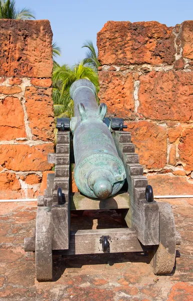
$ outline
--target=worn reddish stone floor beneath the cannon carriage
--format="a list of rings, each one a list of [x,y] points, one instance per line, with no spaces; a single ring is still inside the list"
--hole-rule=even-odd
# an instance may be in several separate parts
[[[164,200],[166,201],[166,200]],[[193,300],[193,201],[167,200],[181,233],[172,274],[155,276],[148,256],[138,253],[54,257],[54,281],[35,279],[35,255],[24,252],[24,237],[31,236],[36,202],[0,203],[0,300],[25,301],[192,301]],[[84,220],[84,221],[83,221]],[[100,225],[122,227],[115,211],[102,212]],[[73,227],[99,227],[97,216],[72,216]]]

